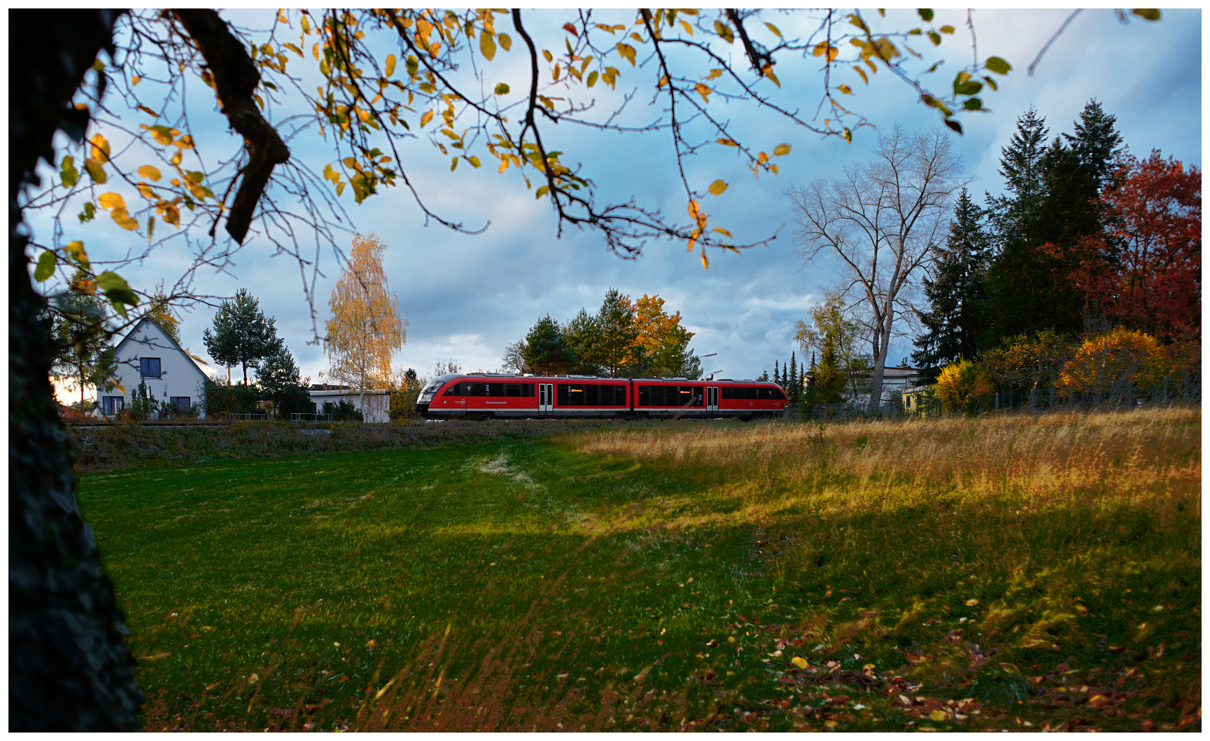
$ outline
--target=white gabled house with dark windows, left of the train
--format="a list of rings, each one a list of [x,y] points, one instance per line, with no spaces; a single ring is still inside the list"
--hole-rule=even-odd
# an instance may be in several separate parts
[[[139,393],[140,383],[146,387],[148,396],[154,396],[161,406],[184,411],[203,400],[206,374],[155,319],[140,319],[114,348],[114,355],[117,360],[115,377],[126,393],[116,388],[111,392],[98,389],[98,413],[116,415]]]

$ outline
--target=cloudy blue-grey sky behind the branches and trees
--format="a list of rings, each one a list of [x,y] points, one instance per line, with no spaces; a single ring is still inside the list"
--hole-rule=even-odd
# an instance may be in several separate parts
[[[624,16],[633,11],[618,13],[624,23],[628,22]],[[914,22],[909,13],[888,11],[881,23],[887,28],[910,28]],[[773,11],[762,16],[777,23],[786,36],[794,35],[795,18]],[[877,17],[876,12],[868,16]],[[1095,98],[1108,114],[1117,116],[1118,129],[1134,154],[1145,156],[1154,147],[1187,164],[1202,166],[1200,11],[1169,10],[1160,23],[1131,18],[1122,24],[1111,10],[1087,10],[1050,47],[1035,75],[1026,75],[1030,62],[1067,16],[1068,11],[1049,10],[974,12],[980,57],[997,54],[1014,66],[1001,79],[999,92],[984,98],[991,112],[962,116],[966,134],[953,137],[963,172],[980,202],[984,191],[999,191],[1001,147],[1012,137],[1016,117],[1031,105],[1045,117],[1054,137],[1071,132],[1072,121]],[[574,13],[542,11],[531,17],[529,28],[548,31],[544,46],[561,47],[560,36],[549,29],[558,29]],[[244,16],[248,18],[257,16]],[[944,89],[957,64],[972,53],[969,35],[963,35],[966,12],[938,11],[934,23],[958,27],[958,34],[946,39],[940,53],[926,52],[926,57],[933,54],[930,59],[951,60],[930,81]],[[811,30],[806,23],[800,28],[805,33]],[[511,31],[511,23],[497,19],[497,30]],[[535,35],[543,46],[543,36]],[[742,50],[727,51],[737,68],[745,66],[737,56]],[[522,60],[514,46],[512,58],[494,75],[520,82],[517,64]],[[809,59],[780,60],[777,70],[786,105],[814,110],[820,85],[817,68]],[[951,70],[949,75],[946,69]],[[632,70],[627,64],[622,70],[617,95],[639,88],[628,109],[629,121],[658,118],[663,112],[658,105],[646,108],[651,99],[650,68]],[[853,106],[880,129],[895,123],[908,131],[941,126],[935,111],[918,103],[906,85],[886,71],[874,75],[869,87],[854,80],[842,80],[854,86]],[[598,85],[594,92],[601,87]],[[604,110],[615,100],[603,93],[598,106]],[[211,115],[214,137],[221,140],[226,135],[224,122],[217,114]],[[376,232],[388,247],[385,267],[390,288],[398,293],[399,312],[409,324],[396,366],[431,375],[438,360],[454,359],[463,370],[497,369],[505,346],[523,338],[537,319],[551,314],[566,320],[581,307],[594,312],[610,288],[634,299],[643,294],[666,299],[666,309],[679,311],[684,324],[696,332],[691,342],[695,352],[716,353],[703,360],[705,372],[754,377],[772,370],[774,359],[788,360],[791,351],[797,349],[793,340],[795,322],[808,318],[808,308],[832,283],[836,268],[829,261],[803,265],[796,256],[794,216],[785,191],[832,176],[846,164],[866,161],[876,133],[862,129],[849,145],[839,139],[820,140],[817,134],[767,114],[754,115],[750,106],[739,102],[722,106],[719,115],[734,122],[743,138],[766,151],[783,141],[793,151],[779,158],[779,175],[765,174],[760,179],[754,179],[727,147],[708,146],[688,161],[691,183],[701,191],[716,178],[730,184],[722,196],[703,201],[711,226],[724,225],[744,242],[768,237],[780,228],[767,248],[741,255],[711,251],[709,271],[702,270],[697,254],[687,254],[684,244],[649,243],[638,260],[629,261],[610,254],[601,237],[593,232],[565,231],[558,239],[548,203],[535,201],[532,191],[526,191],[512,172],[500,175],[488,163],[472,170],[463,163],[451,174],[448,157],[425,140],[411,140],[407,154],[413,160],[407,164],[426,204],[445,218],[465,221],[468,227],[485,222],[490,227],[482,235],[466,236],[437,224],[426,226],[424,214],[403,189],[384,190],[361,205],[355,205],[348,192],[345,193],[342,202],[352,226]],[[195,112],[195,118],[198,116]],[[547,132],[548,147],[567,152],[566,158],[572,163],[584,164],[598,183],[601,201],[620,202],[634,196],[640,203],[663,208],[680,222],[687,221],[666,133],[622,137],[572,127],[548,127]],[[230,151],[230,143],[223,146]],[[330,149],[317,140],[292,141],[292,154],[316,170],[332,161]],[[41,216],[34,215],[30,221],[35,233],[48,228]],[[70,224],[68,227],[67,238],[79,238],[71,233]],[[102,250],[116,254],[129,248],[131,235],[109,219],[98,219],[88,228],[93,259]],[[347,245],[348,236],[342,239]],[[299,270],[290,257],[275,257],[271,251],[252,239],[226,272],[204,272],[195,288],[215,295],[232,295],[237,288],[248,288],[266,313],[276,317],[278,331],[304,374],[317,381],[319,371],[327,369],[327,359],[322,347],[309,345],[313,337]],[[327,297],[339,277],[332,254],[324,254],[322,260],[327,278],[321,278],[317,285],[321,330],[327,318]],[[184,251],[161,251],[121,272],[134,285],[155,285],[174,280],[186,264]],[[207,360],[201,337],[213,314],[214,309],[202,306],[185,311],[182,317],[183,343]],[[888,364],[898,364],[911,349],[910,338],[897,341]],[[801,363],[801,351],[799,358]],[[221,369],[203,366],[203,370]]]

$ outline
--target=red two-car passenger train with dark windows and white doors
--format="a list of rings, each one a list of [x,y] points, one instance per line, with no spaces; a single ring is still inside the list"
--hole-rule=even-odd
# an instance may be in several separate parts
[[[782,387],[766,381],[446,374],[420,392],[416,411],[427,419],[679,416],[747,421],[783,417],[786,404]]]

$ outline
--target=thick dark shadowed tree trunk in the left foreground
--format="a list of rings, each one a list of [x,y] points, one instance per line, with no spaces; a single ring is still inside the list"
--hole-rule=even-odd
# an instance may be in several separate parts
[[[70,106],[111,44],[119,11],[8,11],[8,730],[138,730],[143,701],[125,616],[75,499],[74,461],[50,383],[45,301],[29,278],[18,195],[53,160]]]

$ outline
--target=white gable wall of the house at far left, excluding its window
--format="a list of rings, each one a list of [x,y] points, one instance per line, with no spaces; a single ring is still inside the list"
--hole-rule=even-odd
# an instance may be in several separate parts
[[[168,404],[173,396],[188,396],[191,405],[202,400],[200,387],[206,374],[155,322],[144,319],[137,324],[119,343],[116,358],[115,375],[126,392],[115,388],[97,393],[98,413],[103,411],[105,396],[122,396],[123,405],[129,405],[140,381],[146,384],[148,396],[155,396],[161,404]],[[143,358],[160,358],[160,377],[143,377]]]

